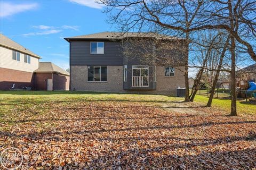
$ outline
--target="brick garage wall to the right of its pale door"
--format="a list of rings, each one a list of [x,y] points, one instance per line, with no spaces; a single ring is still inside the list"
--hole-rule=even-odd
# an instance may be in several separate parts
[[[69,90],[69,76],[53,74],[53,90]]]

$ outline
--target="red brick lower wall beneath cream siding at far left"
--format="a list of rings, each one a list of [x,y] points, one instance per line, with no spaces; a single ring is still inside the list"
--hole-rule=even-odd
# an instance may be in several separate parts
[[[13,83],[15,89],[22,89],[24,86],[33,88],[33,75],[31,72],[0,68],[0,90],[9,90]]]

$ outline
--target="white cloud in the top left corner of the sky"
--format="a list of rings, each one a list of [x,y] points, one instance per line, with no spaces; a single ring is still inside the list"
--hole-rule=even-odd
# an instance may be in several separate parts
[[[0,17],[4,18],[20,12],[34,10],[37,7],[37,3],[13,4],[0,1]]]

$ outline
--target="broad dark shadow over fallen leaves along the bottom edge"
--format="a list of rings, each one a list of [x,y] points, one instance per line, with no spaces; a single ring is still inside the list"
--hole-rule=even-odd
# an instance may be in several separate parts
[[[90,164],[84,160],[79,164],[73,162],[65,165],[67,169],[87,167],[97,169],[253,169],[256,162],[252,155],[253,149],[241,149],[230,151],[203,151],[197,155],[183,156],[178,154],[162,154],[166,149],[175,150],[177,145],[171,148],[129,148],[127,151],[115,150],[115,153],[104,153],[90,160]],[[161,156],[155,156],[155,155]],[[118,159],[117,159],[118,158]],[[53,166],[52,168],[59,168]]]

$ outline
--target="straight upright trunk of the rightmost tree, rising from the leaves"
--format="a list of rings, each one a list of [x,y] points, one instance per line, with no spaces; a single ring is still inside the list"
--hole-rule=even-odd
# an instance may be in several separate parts
[[[231,37],[231,112],[230,116],[237,116],[236,111],[236,55],[235,55],[235,38]]]

